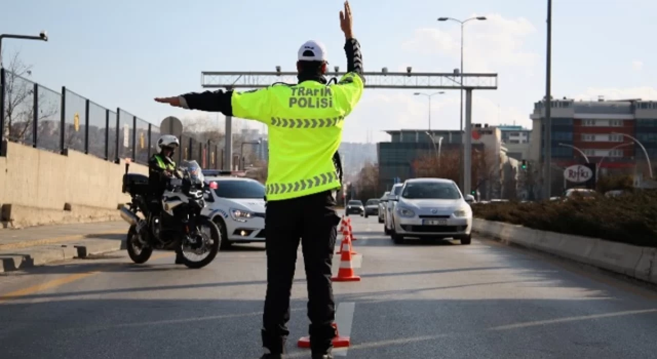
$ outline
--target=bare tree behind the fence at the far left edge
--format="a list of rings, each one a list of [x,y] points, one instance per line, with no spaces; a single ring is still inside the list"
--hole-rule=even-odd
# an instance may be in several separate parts
[[[32,144],[32,131],[37,135],[47,135],[52,126],[41,123],[41,120],[51,119],[58,112],[57,101],[47,93],[39,93],[37,99],[37,121],[39,128],[34,129],[34,82],[26,79],[32,74],[32,65],[26,65],[20,60],[20,54],[15,53],[5,68],[5,138],[9,140]]]

